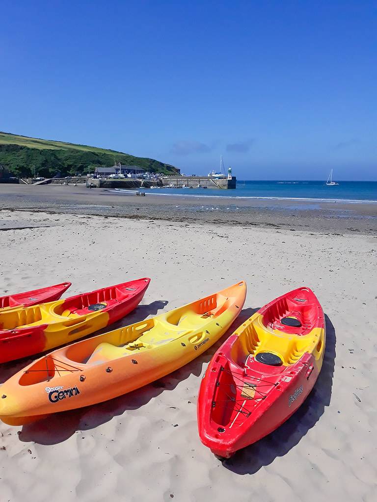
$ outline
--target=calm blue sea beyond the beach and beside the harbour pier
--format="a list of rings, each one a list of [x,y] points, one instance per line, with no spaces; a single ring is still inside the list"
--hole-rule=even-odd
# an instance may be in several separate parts
[[[119,190],[121,191],[121,190]],[[147,193],[202,196],[242,197],[263,199],[335,200],[377,203],[377,181],[339,181],[337,186],[326,186],[323,181],[237,181],[235,190],[202,188],[143,189]]]

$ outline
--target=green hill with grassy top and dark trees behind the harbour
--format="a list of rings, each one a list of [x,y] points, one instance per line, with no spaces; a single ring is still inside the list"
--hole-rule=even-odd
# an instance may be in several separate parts
[[[34,166],[39,176],[49,177],[58,171],[62,176],[87,173],[88,168],[93,172],[95,166],[110,167],[115,162],[140,166],[153,173],[179,173],[177,168],[169,164],[115,150],[0,132],[0,164],[7,167],[14,176],[32,176]]]

